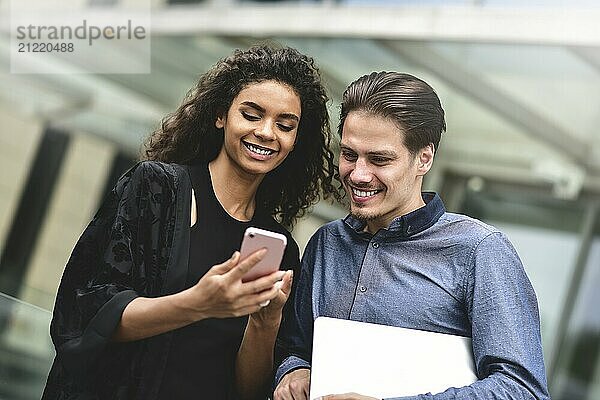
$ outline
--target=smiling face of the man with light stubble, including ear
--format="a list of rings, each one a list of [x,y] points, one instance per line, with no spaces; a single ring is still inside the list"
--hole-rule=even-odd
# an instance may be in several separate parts
[[[375,233],[392,220],[424,205],[423,175],[431,168],[433,147],[411,154],[403,132],[388,118],[353,111],[344,122],[340,178],[350,213]]]

